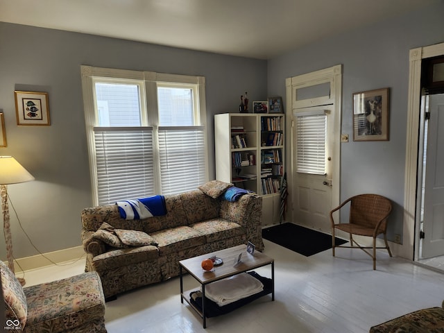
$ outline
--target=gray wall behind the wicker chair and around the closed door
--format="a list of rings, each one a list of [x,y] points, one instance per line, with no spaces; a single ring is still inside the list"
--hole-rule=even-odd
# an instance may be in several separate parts
[[[377,193],[394,201],[388,239],[402,235],[409,50],[444,42],[444,3],[316,42],[268,62],[268,94],[285,96],[285,78],[343,65],[341,200]],[[390,140],[352,141],[352,94],[389,87]]]

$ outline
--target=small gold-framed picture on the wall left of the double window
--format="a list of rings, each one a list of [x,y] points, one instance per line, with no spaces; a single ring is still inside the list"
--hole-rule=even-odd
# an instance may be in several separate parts
[[[15,91],[14,94],[17,125],[50,125],[48,93]]]

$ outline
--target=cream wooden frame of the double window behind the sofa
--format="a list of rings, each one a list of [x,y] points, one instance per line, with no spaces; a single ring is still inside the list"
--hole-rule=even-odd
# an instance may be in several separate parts
[[[207,112],[205,101],[205,77],[185,76],[178,74],[163,74],[153,71],[132,71],[126,69],[109,69],[102,67],[80,66],[83,89],[83,105],[85,111],[85,127],[87,134],[87,148],[89,157],[89,173],[91,175],[93,205],[99,205],[96,151],[94,146],[94,127],[98,127],[98,112],[95,101],[95,83],[123,83],[135,84],[140,87],[141,126],[153,127],[153,141],[158,146],[157,135],[159,130],[159,117],[157,110],[157,87],[193,87],[194,110],[198,110],[195,126],[203,127],[204,151],[205,151],[205,181],[209,179],[208,154],[207,154]],[[175,126],[180,127],[180,126]],[[154,151],[155,191],[160,193],[160,166],[157,150]]]

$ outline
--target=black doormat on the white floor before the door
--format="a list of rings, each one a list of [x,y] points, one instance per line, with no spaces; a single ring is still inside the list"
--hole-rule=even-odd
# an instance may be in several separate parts
[[[301,227],[293,223],[283,223],[262,229],[262,237],[294,252],[309,257],[332,248],[332,236],[316,230]],[[347,241],[335,237],[335,244],[342,245]]]

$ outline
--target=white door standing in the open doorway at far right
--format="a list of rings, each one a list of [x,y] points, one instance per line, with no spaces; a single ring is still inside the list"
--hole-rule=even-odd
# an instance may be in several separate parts
[[[436,95],[437,96],[437,95]],[[429,98],[422,258],[444,255],[444,104]],[[442,98],[441,98],[442,101]]]

